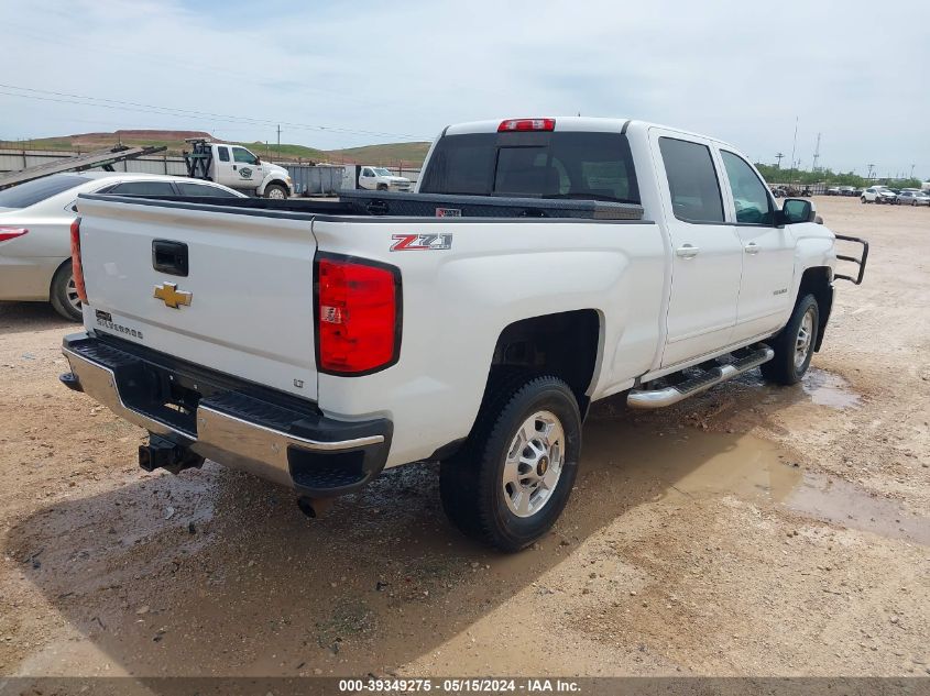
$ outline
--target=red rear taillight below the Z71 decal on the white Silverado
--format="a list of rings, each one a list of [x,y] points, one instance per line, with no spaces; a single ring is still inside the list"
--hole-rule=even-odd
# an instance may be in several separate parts
[[[321,256],[316,262],[317,368],[376,372],[401,351],[401,276],[393,266]]]

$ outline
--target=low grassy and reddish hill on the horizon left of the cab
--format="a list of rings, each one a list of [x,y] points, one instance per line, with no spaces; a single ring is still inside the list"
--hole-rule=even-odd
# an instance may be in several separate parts
[[[2,141],[0,148],[13,147],[29,150],[62,150],[88,152],[101,150],[116,144],[123,145],[154,145],[167,147],[168,155],[179,155],[189,150],[185,143],[187,137],[214,137],[205,131],[164,131],[164,130],[120,130],[112,133],[77,133],[55,137],[42,137],[31,141]],[[260,157],[281,162],[331,162],[339,164],[373,164],[373,165],[404,165],[418,167],[423,164],[429,143],[383,143],[344,150],[317,150],[305,145],[237,143],[254,152]]]

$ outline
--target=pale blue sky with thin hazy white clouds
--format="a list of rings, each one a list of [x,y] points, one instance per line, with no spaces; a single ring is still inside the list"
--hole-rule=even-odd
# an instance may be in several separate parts
[[[874,1],[0,0],[0,139],[205,130],[322,150],[634,118],[930,179],[930,15]],[[883,14],[888,14],[882,19]],[[919,16],[917,16],[919,15]],[[797,120],[797,142],[795,125]]]

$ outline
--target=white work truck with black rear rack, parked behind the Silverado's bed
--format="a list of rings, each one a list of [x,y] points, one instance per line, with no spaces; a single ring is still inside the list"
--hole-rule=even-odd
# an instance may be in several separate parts
[[[294,194],[291,175],[282,166],[263,162],[242,145],[188,139],[190,152],[184,153],[187,175],[222,184],[260,198],[285,199]]]

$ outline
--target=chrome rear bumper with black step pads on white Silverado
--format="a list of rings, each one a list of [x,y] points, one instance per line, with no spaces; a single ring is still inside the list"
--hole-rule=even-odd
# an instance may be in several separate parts
[[[228,379],[209,396],[185,389],[187,398],[197,401],[195,408],[185,408],[165,399],[165,394],[150,396],[158,391],[164,377],[183,384],[184,366],[167,367],[151,356],[134,355],[132,347],[87,334],[66,336],[63,353],[72,373],[62,380],[195,454],[293,486],[303,495],[354,490],[384,466],[392,434],[386,420],[344,422],[296,411],[291,405],[230,389]],[[200,388],[208,383],[203,372],[197,382]]]

